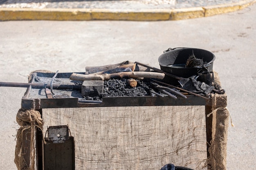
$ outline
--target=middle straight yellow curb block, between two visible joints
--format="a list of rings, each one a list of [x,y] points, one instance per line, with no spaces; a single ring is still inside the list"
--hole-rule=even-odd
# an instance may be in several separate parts
[[[118,11],[92,9],[92,20],[132,20],[132,21],[158,21],[169,20],[171,10],[142,10]]]

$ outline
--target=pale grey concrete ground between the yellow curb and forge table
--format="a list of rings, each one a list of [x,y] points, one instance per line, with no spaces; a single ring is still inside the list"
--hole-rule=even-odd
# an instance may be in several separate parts
[[[228,170],[256,166],[256,4],[233,13],[179,21],[0,22],[0,81],[27,82],[31,71],[81,72],[85,66],[140,61],[159,68],[169,47],[216,55],[236,127],[229,128]],[[25,88],[0,87],[0,170],[16,169],[16,113]]]

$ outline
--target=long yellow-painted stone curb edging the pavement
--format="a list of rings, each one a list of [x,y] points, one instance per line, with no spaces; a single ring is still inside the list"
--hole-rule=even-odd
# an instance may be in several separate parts
[[[147,10],[112,10],[112,9],[29,9],[0,8],[0,21],[9,20],[185,20],[208,17],[221,13],[238,11],[254,4],[256,0],[243,0],[237,3],[209,7],[184,9],[147,9]]]

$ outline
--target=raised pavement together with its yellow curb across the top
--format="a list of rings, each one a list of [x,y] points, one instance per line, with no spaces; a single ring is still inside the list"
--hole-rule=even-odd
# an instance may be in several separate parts
[[[22,2],[22,3],[21,3]],[[0,21],[8,20],[184,20],[238,11],[256,0],[4,0]]]

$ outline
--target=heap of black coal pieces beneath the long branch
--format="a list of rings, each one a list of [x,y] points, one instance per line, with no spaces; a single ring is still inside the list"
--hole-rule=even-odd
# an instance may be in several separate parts
[[[137,79],[137,86],[131,87],[126,83],[126,79],[110,79],[104,81],[103,97],[123,97],[123,96],[150,96],[149,80]]]

